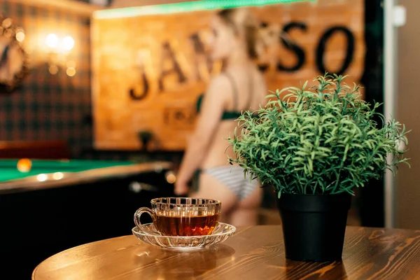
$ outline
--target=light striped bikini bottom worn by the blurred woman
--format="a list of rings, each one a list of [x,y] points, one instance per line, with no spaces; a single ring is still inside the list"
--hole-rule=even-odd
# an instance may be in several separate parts
[[[237,195],[239,200],[244,200],[259,186],[257,179],[250,181],[250,175],[244,176],[244,169],[238,166],[211,167],[202,169],[201,172],[207,173],[223,183]]]

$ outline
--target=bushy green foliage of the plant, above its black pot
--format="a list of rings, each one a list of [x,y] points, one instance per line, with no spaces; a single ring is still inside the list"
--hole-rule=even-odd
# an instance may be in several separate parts
[[[407,144],[405,125],[386,120],[381,104],[360,99],[358,85],[345,76],[318,76],[318,85],[270,92],[266,106],[244,111],[239,129],[227,139],[235,153],[230,164],[251,172],[281,193],[353,194],[386,169],[407,162],[398,142]],[[379,116],[381,123],[374,118]],[[386,155],[393,160],[386,162]]]

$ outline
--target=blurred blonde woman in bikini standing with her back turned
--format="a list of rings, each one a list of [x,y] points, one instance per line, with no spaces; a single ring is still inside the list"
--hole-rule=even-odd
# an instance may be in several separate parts
[[[199,99],[200,117],[175,183],[175,193],[188,193],[188,182],[200,170],[199,188],[192,197],[221,200],[221,221],[255,225],[262,190],[244,178],[244,169],[228,165],[234,157],[226,140],[234,133],[241,111],[265,105],[265,80],[253,62],[257,58],[258,26],[244,9],[221,10],[211,20],[211,57],[221,59],[223,71],[212,78]],[[228,148],[228,149],[227,149]]]

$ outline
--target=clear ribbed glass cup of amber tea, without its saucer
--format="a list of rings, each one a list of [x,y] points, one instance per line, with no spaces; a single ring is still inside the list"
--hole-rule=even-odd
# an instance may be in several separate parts
[[[161,235],[211,235],[218,225],[222,204],[218,200],[188,197],[163,197],[151,200],[151,209],[139,208],[134,223],[141,228],[140,216],[147,213]]]

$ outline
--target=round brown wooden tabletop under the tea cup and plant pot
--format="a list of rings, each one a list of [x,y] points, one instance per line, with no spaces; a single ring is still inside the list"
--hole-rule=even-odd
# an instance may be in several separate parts
[[[420,231],[348,227],[342,262],[286,260],[278,225],[238,228],[223,244],[190,252],[125,236],[53,255],[32,279],[420,279]]]

